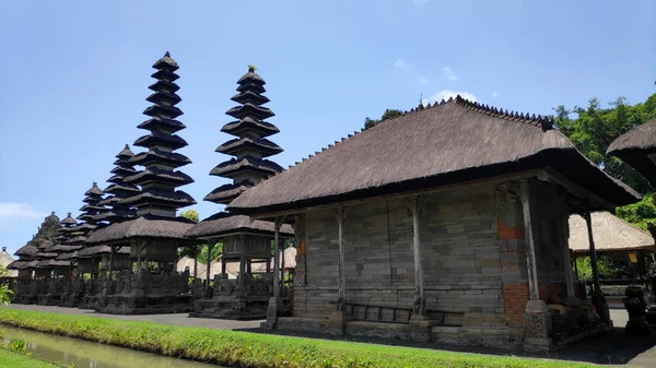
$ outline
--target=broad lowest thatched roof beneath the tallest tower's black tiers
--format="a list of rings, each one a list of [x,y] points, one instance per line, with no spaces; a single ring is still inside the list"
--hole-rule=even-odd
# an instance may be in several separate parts
[[[184,217],[145,215],[91,233],[86,244],[115,244],[138,238],[184,239],[196,223]]]

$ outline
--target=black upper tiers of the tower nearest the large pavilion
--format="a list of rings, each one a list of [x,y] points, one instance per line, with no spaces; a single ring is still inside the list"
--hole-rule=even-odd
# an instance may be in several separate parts
[[[206,195],[206,201],[227,204],[237,198],[247,188],[282,171],[274,162],[266,159],[282,152],[278,144],[266,136],[279,132],[276,126],[265,121],[274,114],[262,105],[269,102],[262,93],[265,80],[255,72],[254,67],[248,67],[248,72],[238,81],[237,94],[231,99],[239,104],[225,114],[237,119],[223,126],[222,132],[236,138],[221,144],[216,152],[234,156],[234,158],[219,164],[210,175],[233,180],[233,183],[221,186]]]

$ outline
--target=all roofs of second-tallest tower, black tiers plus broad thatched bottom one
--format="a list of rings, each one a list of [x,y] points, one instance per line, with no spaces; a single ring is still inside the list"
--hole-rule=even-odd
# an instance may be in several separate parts
[[[254,67],[248,67],[248,72],[238,81],[237,94],[231,99],[241,104],[225,114],[237,119],[223,126],[222,132],[236,138],[221,144],[216,152],[234,156],[214,167],[210,175],[232,179],[233,182],[223,185],[208,195],[204,200],[218,204],[229,204],[246,189],[259,181],[282,171],[282,167],[266,157],[282,152],[278,144],[266,136],[279,132],[276,126],[265,121],[274,114],[261,105],[269,102],[263,96],[265,80],[255,72]],[[219,212],[189,229],[187,237],[197,239],[211,239],[218,236],[247,232],[250,234],[271,235],[274,232],[273,223],[251,221],[248,216],[236,215],[229,212]],[[293,234],[289,225],[281,228],[284,235]]]

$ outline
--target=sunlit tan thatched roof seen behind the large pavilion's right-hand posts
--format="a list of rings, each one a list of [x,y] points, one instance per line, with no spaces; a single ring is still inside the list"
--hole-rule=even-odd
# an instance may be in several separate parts
[[[652,235],[609,212],[593,212],[593,237],[597,252],[656,250]],[[577,253],[590,249],[587,225],[579,215],[570,216],[570,249]]]

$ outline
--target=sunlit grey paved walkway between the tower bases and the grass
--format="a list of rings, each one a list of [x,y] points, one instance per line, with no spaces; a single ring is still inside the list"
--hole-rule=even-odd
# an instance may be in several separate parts
[[[78,308],[63,308],[63,307],[47,307],[47,306],[35,306],[35,305],[17,305],[13,304],[7,307],[17,310],[36,310],[42,312],[56,312],[65,314],[77,314],[77,316],[91,316],[110,318],[126,321],[147,321],[154,323],[165,323],[173,325],[186,325],[191,328],[206,328],[216,330],[239,330],[239,329],[257,329],[262,321],[231,321],[231,320],[216,320],[210,318],[189,318],[188,313],[174,313],[174,314],[144,314],[144,316],[119,316],[119,314],[105,314],[96,313],[91,309],[78,309]]]

